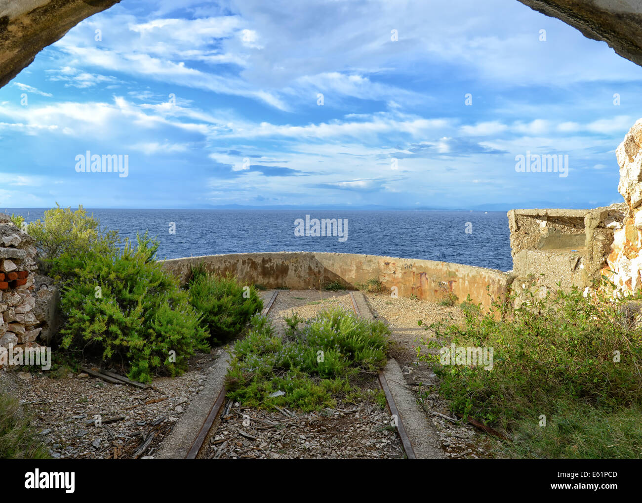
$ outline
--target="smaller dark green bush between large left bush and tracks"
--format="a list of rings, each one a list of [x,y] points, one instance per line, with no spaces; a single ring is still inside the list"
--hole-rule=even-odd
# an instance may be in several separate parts
[[[203,267],[192,270],[189,302],[203,314],[205,330],[213,344],[236,337],[252,315],[263,309],[254,285],[244,287],[232,276],[208,274]]]

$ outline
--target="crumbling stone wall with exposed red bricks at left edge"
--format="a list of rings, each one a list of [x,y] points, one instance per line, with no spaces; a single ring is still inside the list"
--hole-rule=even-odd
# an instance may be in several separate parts
[[[51,279],[37,274],[36,254],[33,238],[0,213],[2,348],[38,347],[37,339],[44,340],[42,331],[49,338],[57,328],[57,289]]]

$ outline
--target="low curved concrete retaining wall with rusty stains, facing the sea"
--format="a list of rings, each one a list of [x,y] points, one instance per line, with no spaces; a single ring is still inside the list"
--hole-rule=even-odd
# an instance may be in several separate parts
[[[413,294],[438,301],[453,292],[460,301],[467,295],[475,303],[490,306],[490,296],[503,297],[514,276],[495,269],[433,260],[417,260],[377,255],[317,252],[234,253],[164,260],[163,267],[182,283],[189,279],[192,266],[203,263],[210,272],[231,272],[239,281],[267,288],[322,289],[331,281],[349,288],[378,278],[400,297]],[[489,290],[487,292],[487,287]]]

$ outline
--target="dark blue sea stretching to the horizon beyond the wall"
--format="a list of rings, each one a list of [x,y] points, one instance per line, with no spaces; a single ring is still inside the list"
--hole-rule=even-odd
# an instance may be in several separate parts
[[[4,210],[1,208],[0,211]],[[149,231],[160,241],[158,258],[240,252],[320,251],[442,260],[512,269],[508,218],[480,211],[298,211],[290,209],[87,209],[101,227],[124,237]],[[12,209],[29,222],[44,209]],[[347,218],[347,240],[297,237],[295,220]],[[176,233],[169,233],[169,223]],[[467,223],[472,233],[466,233]],[[469,228],[471,228],[469,226]]]

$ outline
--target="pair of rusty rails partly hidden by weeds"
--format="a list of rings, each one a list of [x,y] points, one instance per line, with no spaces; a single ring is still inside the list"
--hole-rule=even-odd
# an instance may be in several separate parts
[[[261,314],[263,316],[268,315],[270,309],[272,308],[272,304],[274,303],[278,294],[279,290],[275,290],[273,292],[272,297],[270,297],[270,300],[268,301],[268,304],[265,306],[263,311],[261,311]],[[349,292],[349,294],[350,301],[352,303],[352,310],[358,317],[361,317],[361,311],[359,309],[356,298],[354,297],[354,292],[351,291]],[[399,434],[399,438],[401,438],[401,445],[403,446],[404,452],[406,452],[406,457],[408,459],[416,459],[415,451],[413,450],[412,443],[410,443],[410,438],[408,437],[408,432],[406,432],[406,427],[404,427],[403,419],[401,418],[401,414],[397,409],[397,404],[395,403],[394,397],[392,396],[392,393],[390,393],[390,387],[388,387],[388,382],[386,381],[386,376],[384,375],[383,371],[379,372],[379,384],[381,385],[381,389],[383,389],[383,393],[385,393],[386,403],[388,403],[390,414],[397,418],[397,434]],[[189,452],[187,453],[185,459],[196,459],[196,457],[198,457],[198,453],[202,450],[205,440],[207,439],[207,436],[209,435],[209,432],[213,427],[216,418],[218,418],[221,409],[223,408],[223,403],[225,403],[225,385],[221,387],[218,398],[216,398],[216,402],[214,402],[214,405],[212,405],[212,409],[209,411],[209,414],[207,414],[207,418],[205,418],[205,421],[200,428],[196,439],[192,443],[192,446],[189,449]]]

